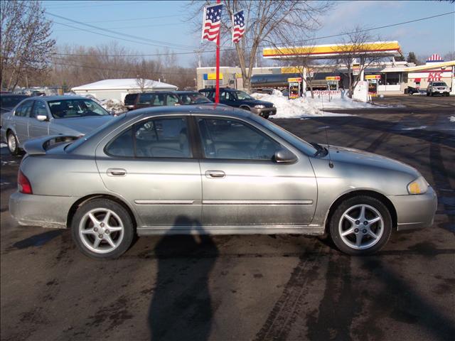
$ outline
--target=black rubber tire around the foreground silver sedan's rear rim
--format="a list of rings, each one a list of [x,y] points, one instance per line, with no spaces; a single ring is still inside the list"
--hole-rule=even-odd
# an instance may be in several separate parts
[[[117,228],[119,225],[123,225],[123,234],[121,231],[119,232],[109,232],[107,228],[105,227],[100,227],[98,226],[97,229],[99,229],[97,233],[100,234],[82,234],[85,237],[85,242],[82,241],[81,233],[80,233],[80,224],[84,225],[81,227],[82,229],[85,227],[95,227],[95,224],[92,223],[92,221],[89,221],[89,218],[86,217],[87,213],[90,211],[94,210],[100,210],[100,214],[96,216],[98,213],[95,212],[93,215],[95,217],[100,217],[102,219],[102,210],[110,210],[111,212],[114,212],[114,215],[112,215],[112,218],[110,218],[110,222],[118,223],[118,220],[120,220],[120,224],[117,224],[117,226],[113,226],[113,228]],[[117,217],[115,217],[117,215]],[[107,226],[109,228],[109,224],[103,225]],[[101,231],[100,229],[103,228]],[[88,228],[90,229],[90,228]],[[87,230],[88,230],[87,229]],[[132,217],[129,215],[129,212],[125,210],[125,208],[122,205],[119,205],[117,202],[114,202],[112,200],[108,199],[94,199],[90,200],[89,202],[86,202],[83,204],[81,207],[79,207],[73,217],[73,220],[71,222],[71,235],[73,237],[73,241],[75,242],[77,248],[82,252],[82,254],[85,254],[86,256],[89,256],[90,258],[93,259],[116,259],[122,254],[124,254],[127,249],[132,244],[133,238],[134,238],[134,224]],[[105,249],[112,248],[107,240],[105,239],[100,239],[100,251],[92,251],[92,249],[89,249],[87,247],[87,242],[90,243],[90,239],[94,240],[98,239],[97,236],[104,235],[106,237],[112,238],[115,242],[115,238],[117,237],[117,242],[118,245],[112,249],[112,251],[102,251],[102,248],[104,247]],[[96,247],[95,247],[96,249]]]

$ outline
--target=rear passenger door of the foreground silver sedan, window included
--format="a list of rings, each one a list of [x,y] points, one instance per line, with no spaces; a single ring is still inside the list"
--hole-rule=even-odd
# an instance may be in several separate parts
[[[151,118],[97,148],[106,188],[130,202],[149,232],[200,221],[200,168],[188,131],[187,117]]]

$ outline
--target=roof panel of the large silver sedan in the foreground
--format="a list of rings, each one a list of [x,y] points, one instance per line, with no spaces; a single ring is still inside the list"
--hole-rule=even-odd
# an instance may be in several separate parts
[[[216,103],[204,103],[202,104],[188,104],[179,105],[176,107],[146,107],[142,109],[132,110],[127,112],[127,117],[133,119],[138,116],[161,116],[166,114],[208,114],[208,115],[229,115],[238,118],[247,118],[252,116],[250,112],[246,110],[228,107],[224,104]]]

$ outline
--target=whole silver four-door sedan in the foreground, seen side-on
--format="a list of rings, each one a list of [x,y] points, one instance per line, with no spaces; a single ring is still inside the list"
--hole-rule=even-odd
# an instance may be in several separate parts
[[[393,229],[429,227],[437,197],[399,161],[309,144],[245,110],[139,109],[71,142],[25,144],[9,209],[20,224],[69,227],[94,258],[134,234],[331,235],[348,254]]]

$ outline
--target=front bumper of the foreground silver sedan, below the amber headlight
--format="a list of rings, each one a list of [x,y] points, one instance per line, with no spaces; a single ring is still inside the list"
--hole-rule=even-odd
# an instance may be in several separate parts
[[[418,195],[389,195],[397,211],[397,230],[431,227],[437,210],[437,195],[431,186]]]

